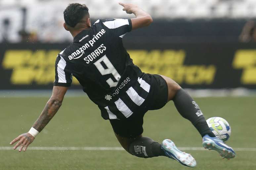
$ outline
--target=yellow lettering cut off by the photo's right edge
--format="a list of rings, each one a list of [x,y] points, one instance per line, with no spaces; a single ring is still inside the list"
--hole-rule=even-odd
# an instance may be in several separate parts
[[[241,75],[242,84],[256,84],[256,50],[237,50],[233,67],[243,70]]]

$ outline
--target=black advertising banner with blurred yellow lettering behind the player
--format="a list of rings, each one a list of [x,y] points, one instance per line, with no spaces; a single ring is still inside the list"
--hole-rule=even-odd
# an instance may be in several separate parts
[[[0,43],[0,90],[50,89],[55,59],[68,44]],[[173,78],[183,88],[256,89],[256,44],[161,41],[125,43],[134,63],[147,73]],[[80,88],[73,78],[71,88]]]

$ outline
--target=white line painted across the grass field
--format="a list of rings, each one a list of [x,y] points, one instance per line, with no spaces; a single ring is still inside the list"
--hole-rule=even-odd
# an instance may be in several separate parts
[[[233,148],[235,151],[253,151],[256,148]],[[1,150],[13,150],[13,147],[0,147]],[[122,147],[28,147],[33,151],[124,151]],[[179,147],[181,151],[208,151],[203,147]]]

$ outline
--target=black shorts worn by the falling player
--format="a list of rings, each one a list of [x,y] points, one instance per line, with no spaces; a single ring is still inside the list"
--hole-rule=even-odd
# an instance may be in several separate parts
[[[110,119],[114,132],[122,137],[133,138],[143,133],[143,117],[148,110],[162,108],[168,100],[166,81],[158,74],[147,74],[151,78],[150,90],[147,99],[142,104],[145,110],[134,113],[124,120]]]

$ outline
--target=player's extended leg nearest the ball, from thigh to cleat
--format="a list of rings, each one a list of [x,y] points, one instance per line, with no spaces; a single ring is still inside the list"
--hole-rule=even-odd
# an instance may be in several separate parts
[[[178,112],[188,119],[203,137],[203,146],[215,150],[224,158],[234,158],[234,150],[219,140],[209,129],[198,104],[174,80],[162,76],[168,86],[168,101],[173,100]]]

